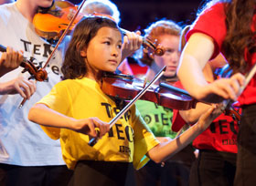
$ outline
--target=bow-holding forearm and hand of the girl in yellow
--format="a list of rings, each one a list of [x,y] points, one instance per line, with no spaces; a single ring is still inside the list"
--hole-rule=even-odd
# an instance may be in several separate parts
[[[36,104],[29,110],[28,119],[43,126],[71,129],[83,134],[97,137],[95,128],[100,129],[100,138],[109,131],[110,125],[97,118],[73,119],[44,104]]]

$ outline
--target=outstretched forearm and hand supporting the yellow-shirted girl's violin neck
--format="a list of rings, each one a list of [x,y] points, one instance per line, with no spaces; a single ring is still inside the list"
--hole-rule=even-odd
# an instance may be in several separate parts
[[[155,148],[149,150],[147,156],[157,163],[169,159],[176,154],[176,152],[185,148],[192,140],[195,140],[201,132],[208,128],[212,120],[216,119],[220,113],[220,107],[215,109],[215,107],[212,106],[200,117],[197,124],[187,129],[176,139],[161,142],[159,145],[155,146]]]

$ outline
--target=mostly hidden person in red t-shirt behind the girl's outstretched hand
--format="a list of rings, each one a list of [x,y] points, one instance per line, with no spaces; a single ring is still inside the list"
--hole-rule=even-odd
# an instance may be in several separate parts
[[[182,36],[185,36],[187,28],[184,30]],[[203,69],[203,74],[207,81],[213,82],[216,77],[214,74],[215,69],[226,64],[226,59],[220,54],[209,61]],[[226,66],[225,69],[227,68]],[[221,70],[220,72],[223,71]],[[227,73],[226,71],[228,70],[224,72]],[[175,85],[182,88],[180,81],[176,82]],[[198,102],[196,109],[174,110],[172,129],[178,131],[185,124],[193,125],[209,107],[210,105],[208,104]],[[231,116],[223,113],[193,141],[193,146],[199,150],[199,153],[190,170],[190,186],[233,185],[238,151],[238,129],[239,120],[234,120]]]

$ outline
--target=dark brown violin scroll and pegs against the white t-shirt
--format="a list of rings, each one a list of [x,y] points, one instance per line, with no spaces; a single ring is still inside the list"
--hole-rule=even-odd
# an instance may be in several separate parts
[[[6,52],[6,47],[0,45],[0,52]],[[20,67],[24,67],[22,73],[28,72],[30,78],[35,78],[37,81],[45,81],[48,78],[48,73],[45,68],[36,67],[33,63],[33,58],[27,60],[24,57],[23,61],[20,63]]]

